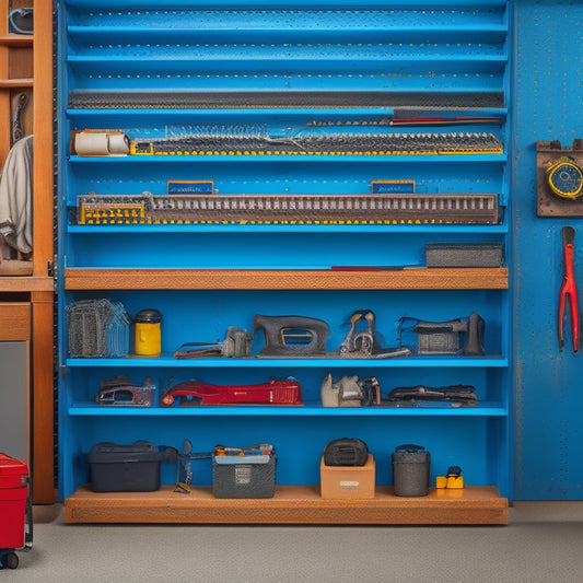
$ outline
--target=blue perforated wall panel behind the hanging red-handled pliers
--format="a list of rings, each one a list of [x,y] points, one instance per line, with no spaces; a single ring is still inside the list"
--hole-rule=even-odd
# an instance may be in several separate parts
[[[561,228],[575,230],[583,291],[583,217],[538,218],[537,140],[583,138],[583,2],[517,0],[515,31],[515,500],[583,499],[583,354],[571,320],[562,352],[558,300]],[[580,295],[581,298],[581,295]]]

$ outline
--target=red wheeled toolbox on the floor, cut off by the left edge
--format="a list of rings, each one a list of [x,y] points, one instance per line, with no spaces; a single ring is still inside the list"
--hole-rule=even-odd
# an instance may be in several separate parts
[[[28,503],[28,467],[24,462],[0,453],[0,564],[15,569],[13,552],[25,546]]]

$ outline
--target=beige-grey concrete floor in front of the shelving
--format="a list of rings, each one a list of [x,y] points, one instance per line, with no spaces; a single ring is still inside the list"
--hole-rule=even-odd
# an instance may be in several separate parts
[[[72,525],[35,506],[0,583],[580,583],[583,502],[516,502],[508,526]]]

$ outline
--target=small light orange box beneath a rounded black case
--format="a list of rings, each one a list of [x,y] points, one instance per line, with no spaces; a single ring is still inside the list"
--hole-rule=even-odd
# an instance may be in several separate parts
[[[376,469],[369,454],[363,466],[327,466],[324,456],[319,463],[320,495],[328,500],[374,498]]]

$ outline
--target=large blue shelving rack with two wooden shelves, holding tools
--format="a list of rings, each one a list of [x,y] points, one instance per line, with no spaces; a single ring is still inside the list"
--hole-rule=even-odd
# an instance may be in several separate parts
[[[69,522],[466,524],[506,522],[512,491],[512,242],[509,110],[511,2],[433,0],[267,2],[66,0],[58,8],[59,434],[60,498]],[[150,96],[150,97],[148,97]],[[175,100],[173,101],[173,98]],[[116,100],[119,98],[118,105]],[[397,117],[488,116],[495,124],[390,127]],[[429,124],[429,123],[428,123]],[[80,156],[72,131],[123,130],[161,138],[241,127],[270,135],[354,130],[412,135],[488,132],[495,153],[213,151],[206,155]],[[412,138],[411,138],[412,139]],[[373,180],[415,180],[419,194],[495,194],[495,224],[431,221],[302,221],[79,224],[78,196],[166,193],[167,180],[212,180],[219,195],[366,195]],[[503,243],[499,268],[429,269],[428,243]],[[333,271],[331,266],[350,266]],[[366,270],[359,266],[396,266]],[[400,269],[406,267],[406,269]],[[410,269],[409,269],[410,267]],[[159,358],[69,358],[68,305],[121,302],[135,315],[163,314]],[[350,314],[370,308],[384,346],[401,316],[486,320],[483,357],[207,358],[176,360],[182,343],[253,328],[256,314],[303,315],[330,326],[328,350]],[[257,353],[257,335],[253,353]],[[323,408],[320,384],[357,374],[397,386],[470,384],[476,407]],[[158,383],[200,378],[259,383],[292,375],[303,406],[103,407],[100,383],[126,374]],[[158,403],[158,400],[156,400]],[[318,494],[324,445],[364,440],[376,460],[378,495],[327,501]],[[86,453],[101,441],[149,440],[195,451],[217,443],[273,443],[276,497],[214,500],[210,465],[193,462],[193,493],[163,488],[98,494],[86,487]],[[390,454],[417,443],[431,453],[432,481],[463,468],[467,487],[422,499],[392,493]]]

